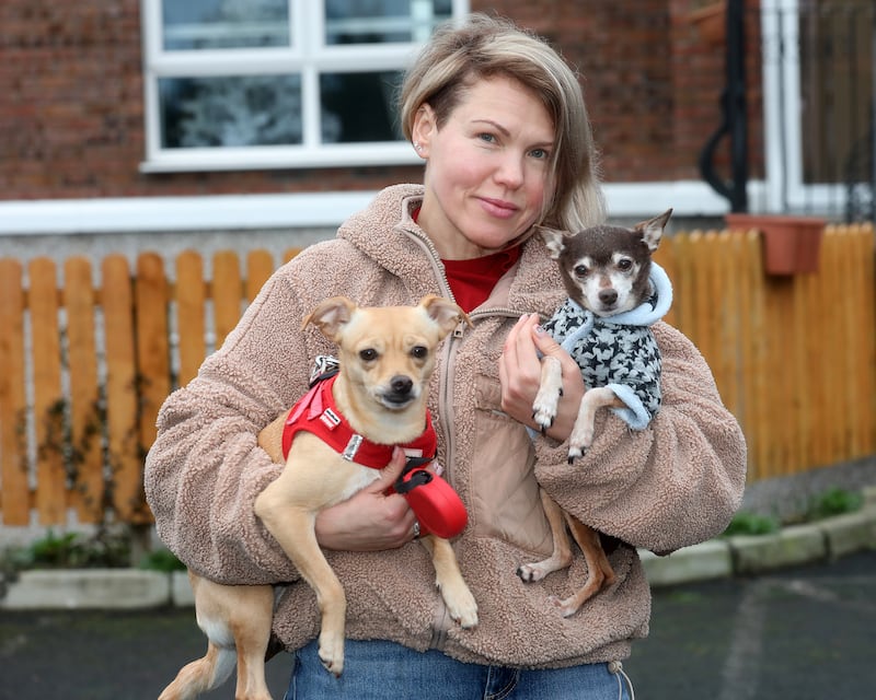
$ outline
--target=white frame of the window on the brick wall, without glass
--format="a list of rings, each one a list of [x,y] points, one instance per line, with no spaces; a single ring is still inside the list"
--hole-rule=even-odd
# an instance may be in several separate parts
[[[291,46],[257,49],[165,51],[161,0],[140,0],[143,37],[146,156],[140,171],[198,172],[396,165],[420,163],[407,142],[320,143],[320,85],[323,72],[403,70],[422,43],[327,46],[323,0],[288,0]],[[452,16],[469,12],[469,0],[452,0]],[[296,145],[166,149],[161,145],[159,79],[246,74],[301,75],[303,142]]]

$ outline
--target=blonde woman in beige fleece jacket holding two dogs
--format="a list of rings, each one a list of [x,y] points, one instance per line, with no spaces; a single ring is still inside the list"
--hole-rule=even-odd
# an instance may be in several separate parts
[[[538,323],[562,283],[533,225],[600,222],[596,149],[575,74],[545,43],[475,15],[439,31],[402,92],[405,136],[424,185],[380,192],[278,270],[196,380],[159,418],[146,487],[159,534],[195,571],[223,583],[286,582],[275,633],[295,652],[287,698],[629,697],[620,661],[647,633],[650,597],[636,548],[668,552],[729,521],[745,481],[745,443],[700,354],[657,325],[662,409],[633,433],[602,416],[588,455],[567,464],[584,393],[580,371]],[[439,463],[463,499],[460,565],[480,609],[476,629],[448,619],[417,524],[387,478],[325,512],[316,533],[348,597],[346,665],[321,666],[312,592],[253,515],[280,470],[256,447],[260,429],[307,387],[332,347],[301,332],[322,299],[362,305],[452,296],[473,328],[445,341],[430,388]],[[561,412],[532,440],[539,353],[563,363]],[[549,596],[583,580],[581,562],[523,583],[521,562],[551,548],[539,485],[621,545],[615,585],[563,618]]]

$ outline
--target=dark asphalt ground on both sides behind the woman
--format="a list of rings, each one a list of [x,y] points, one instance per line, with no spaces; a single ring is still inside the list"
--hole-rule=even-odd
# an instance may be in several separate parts
[[[204,646],[191,609],[0,612],[0,700],[154,700]],[[624,667],[647,700],[876,697],[876,552],[659,588]],[[289,669],[268,664],[276,700]],[[230,679],[203,698],[233,695]]]

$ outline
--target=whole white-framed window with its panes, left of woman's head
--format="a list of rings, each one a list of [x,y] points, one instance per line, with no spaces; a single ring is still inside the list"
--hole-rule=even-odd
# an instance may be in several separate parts
[[[143,172],[414,165],[404,70],[466,0],[140,0]]]

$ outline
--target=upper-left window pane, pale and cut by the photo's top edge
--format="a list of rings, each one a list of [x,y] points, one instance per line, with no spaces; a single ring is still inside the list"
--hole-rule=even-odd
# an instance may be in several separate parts
[[[287,0],[162,0],[165,50],[289,46]]]

